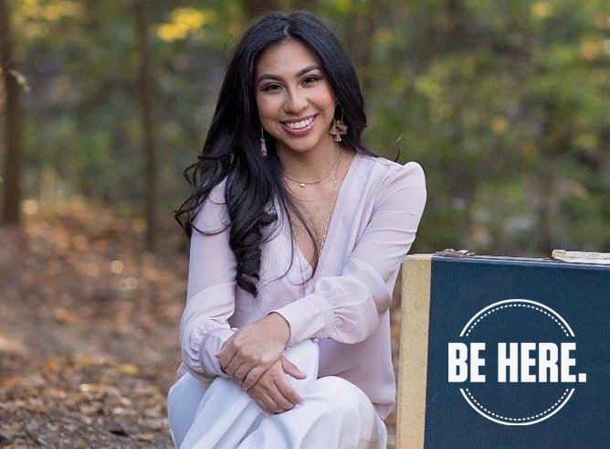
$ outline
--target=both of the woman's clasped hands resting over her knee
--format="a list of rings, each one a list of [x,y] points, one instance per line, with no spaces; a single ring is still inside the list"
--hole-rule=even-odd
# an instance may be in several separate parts
[[[286,379],[286,374],[307,377],[282,356],[289,338],[288,322],[272,313],[239,328],[216,355],[220,368],[269,414],[286,412],[302,401]]]

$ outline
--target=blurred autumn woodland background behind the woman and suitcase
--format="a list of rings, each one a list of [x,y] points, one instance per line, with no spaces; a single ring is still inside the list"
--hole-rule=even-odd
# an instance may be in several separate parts
[[[607,0],[0,0],[0,445],[171,447],[182,173],[237,38],[293,8],[352,56],[365,144],[426,170],[412,252],[610,251]]]

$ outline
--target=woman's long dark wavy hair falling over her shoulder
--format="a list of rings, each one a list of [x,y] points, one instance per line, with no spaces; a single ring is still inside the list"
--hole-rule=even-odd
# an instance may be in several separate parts
[[[237,43],[237,48],[226,67],[216,103],[214,118],[205,138],[203,151],[197,161],[184,170],[184,177],[193,187],[191,194],[174,218],[190,241],[194,221],[210,191],[226,177],[225,198],[230,223],[229,246],[237,260],[237,285],[254,296],[261,261],[262,229],[278,220],[273,205],[277,198],[284,211],[290,209],[308,231],[315,248],[315,273],[319,249],[307,220],[296,201],[282,183],[282,166],[276,153],[274,139],[264,133],[268,148],[267,158],[260,154],[261,123],[255,94],[255,68],[261,53],[274,44],[289,38],[299,39],[318,59],[321,70],[331,85],[338,101],[335,115],[347,125],[341,145],[358,153],[378,157],[361,144],[366,127],[363,95],[352,61],[328,27],[310,13],[295,11],[269,13],[249,27]],[[289,225],[290,235],[292,226]],[[290,256],[292,266],[294,246]]]

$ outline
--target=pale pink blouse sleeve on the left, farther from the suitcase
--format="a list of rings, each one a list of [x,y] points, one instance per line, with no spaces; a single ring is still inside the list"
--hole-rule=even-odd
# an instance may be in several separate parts
[[[186,306],[180,322],[184,369],[198,379],[228,377],[215,357],[237,330],[228,325],[235,311],[237,262],[229,247],[229,222],[225,201],[226,178],[212,189],[195,218],[189,254]],[[225,229],[226,228],[226,229]]]

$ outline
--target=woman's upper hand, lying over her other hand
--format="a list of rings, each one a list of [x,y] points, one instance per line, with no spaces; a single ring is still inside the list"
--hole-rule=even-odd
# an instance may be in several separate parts
[[[220,368],[249,390],[283,354],[290,327],[282,315],[271,313],[241,327],[217,354]]]

